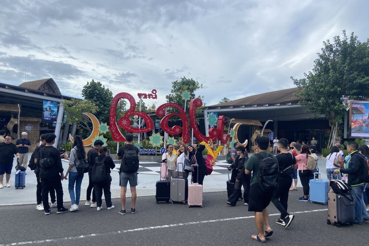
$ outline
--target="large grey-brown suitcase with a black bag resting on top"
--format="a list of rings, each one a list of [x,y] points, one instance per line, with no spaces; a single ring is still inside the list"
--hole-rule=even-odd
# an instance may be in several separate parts
[[[354,224],[355,200],[351,193],[336,194],[332,190],[328,192],[328,218],[327,224],[337,227],[342,224]]]

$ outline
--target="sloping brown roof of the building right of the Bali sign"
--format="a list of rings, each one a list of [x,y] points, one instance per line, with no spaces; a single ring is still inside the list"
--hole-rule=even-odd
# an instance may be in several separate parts
[[[244,97],[237,100],[232,100],[227,103],[215,104],[210,107],[231,107],[231,106],[249,106],[249,105],[261,105],[261,104],[278,104],[278,103],[296,103],[299,98],[293,95],[297,91],[297,87],[270,91],[254,96]]]

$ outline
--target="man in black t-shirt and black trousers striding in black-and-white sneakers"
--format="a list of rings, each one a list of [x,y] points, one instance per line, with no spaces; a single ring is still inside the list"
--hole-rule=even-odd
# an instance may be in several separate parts
[[[279,165],[279,176],[278,187],[273,193],[272,202],[281,213],[280,218],[276,220],[276,223],[287,228],[295,217],[287,212],[287,202],[290,185],[292,183],[292,174],[296,169],[296,159],[287,150],[287,139],[279,139],[277,147],[280,152],[280,154],[276,156]]]

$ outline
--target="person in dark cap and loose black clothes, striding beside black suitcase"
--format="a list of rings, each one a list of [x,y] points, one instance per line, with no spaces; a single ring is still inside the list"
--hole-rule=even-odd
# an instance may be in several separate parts
[[[245,174],[245,163],[249,159],[247,152],[245,152],[245,147],[239,145],[237,148],[237,157],[235,160],[235,166],[237,169],[237,176],[234,185],[234,190],[230,197],[228,198],[227,204],[230,206],[235,206],[239,198],[239,193],[241,192],[241,187],[244,187],[244,205],[249,203],[249,190],[251,182],[251,174]]]

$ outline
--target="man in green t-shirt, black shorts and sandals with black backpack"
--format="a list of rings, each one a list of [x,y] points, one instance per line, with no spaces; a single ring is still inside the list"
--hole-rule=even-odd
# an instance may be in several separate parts
[[[251,238],[259,242],[266,242],[265,238],[273,234],[266,207],[278,186],[278,160],[274,155],[266,152],[268,145],[267,137],[257,138],[256,148],[259,153],[250,156],[245,164],[245,173],[251,174],[252,171],[248,211],[255,212],[255,224],[258,229],[258,233]]]

